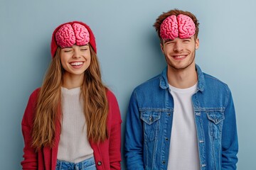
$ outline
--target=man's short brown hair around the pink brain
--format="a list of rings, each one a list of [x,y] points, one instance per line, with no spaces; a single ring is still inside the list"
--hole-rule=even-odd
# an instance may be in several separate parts
[[[173,9],[171,11],[168,11],[166,13],[161,14],[158,18],[156,18],[156,22],[154,23],[154,28],[156,28],[156,32],[157,32],[157,34],[159,36],[159,39],[160,39],[161,43],[163,43],[163,39],[160,36],[160,26],[161,26],[161,23],[168,16],[172,16],[172,15],[178,16],[179,14],[183,14],[183,15],[189,16],[192,19],[192,21],[195,23],[195,26],[196,26],[195,38],[198,38],[199,23],[198,23],[198,19],[196,18],[196,16],[193,15],[193,13],[191,13],[191,12],[181,11],[181,10],[178,10],[177,8],[175,8],[175,9]]]

